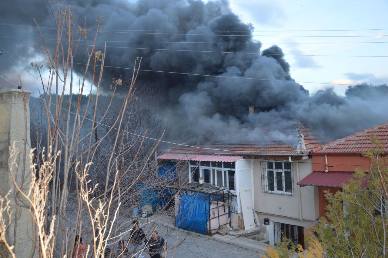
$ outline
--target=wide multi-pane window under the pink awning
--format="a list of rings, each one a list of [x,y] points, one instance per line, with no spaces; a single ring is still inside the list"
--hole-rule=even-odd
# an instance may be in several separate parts
[[[191,182],[198,182],[199,177],[204,182],[229,188],[234,191],[234,178],[236,174],[234,162],[190,162]]]

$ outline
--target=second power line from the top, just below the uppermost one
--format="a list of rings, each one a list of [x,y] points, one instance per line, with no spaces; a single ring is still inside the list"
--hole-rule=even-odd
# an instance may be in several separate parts
[[[17,24],[5,24],[5,23],[0,23],[1,25],[7,25],[7,26],[22,26],[22,27],[31,27],[31,28],[38,28],[36,26],[26,26],[26,25],[17,25]],[[57,28],[49,28],[49,27],[39,27],[41,29],[57,29]],[[96,29],[87,29],[88,31],[97,31]],[[322,35],[252,35],[252,34],[244,34],[244,35],[237,35],[237,34],[232,34],[232,35],[225,35],[225,34],[194,34],[194,33],[159,33],[159,32],[140,32],[140,31],[104,31],[104,30],[98,30],[99,32],[102,33],[124,33],[124,34],[162,34],[162,35],[193,35],[193,36],[237,36],[237,37],[245,37],[245,36],[257,36],[257,37],[313,37],[313,38],[348,38],[348,37],[386,37],[388,35],[345,35],[345,36],[322,36]],[[212,31],[209,31],[212,32]],[[217,31],[215,31],[217,32]],[[230,31],[220,31],[220,32],[230,32]],[[245,31],[248,32],[248,31]]]

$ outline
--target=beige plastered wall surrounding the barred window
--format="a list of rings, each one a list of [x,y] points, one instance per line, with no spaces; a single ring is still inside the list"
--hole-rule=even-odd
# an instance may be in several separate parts
[[[293,162],[294,195],[262,192],[262,172],[260,166],[261,161],[264,160],[255,159],[253,165],[253,183],[255,186],[255,211],[258,213],[265,213],[268,215],[290,218],[292,220],[288,221],[292,221],[293,223],[287,224],[292,225],[303,226],[306,224],[310,224],[310,222],[303,222],[301,219],[310,221],[318,219],[318,197],[314,194],[314,187],[307,186],[300,188],[300,186],[296,184],[298,182],[298,179],[301,180],[303,179],[303,177],[307,176],[312,172],[311,159],[298,161],[299,178],[296,162]],[[262,220],[260,222],[263,223]]]

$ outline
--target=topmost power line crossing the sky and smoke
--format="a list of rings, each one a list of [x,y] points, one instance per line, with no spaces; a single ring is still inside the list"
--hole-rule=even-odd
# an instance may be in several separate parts
[[[20,25],[20,24],[10,24],[10,23],[3,23],[0,22],[1,25],[7,25],[7,26],[21,26],[21,27],[29,27],[29,28],[38,28],[36,26],[28,26],[28,25]],[[48,27],[39,27],[43,29],[57,29],[57,28],[48,28]],[[386,30],[388,28],[383,29],[316,29],[316,30],[310,30],[310,29],[300,29],[300,30],[265,30],[265,31],[250,31],[250,32],[300,32],[300,31],[381,31]],[[89,31],[96,31],[96,29],[88,29]],[[159,29],[153,29],[153,30],[145,30],[145,29],[106,29],[106,31],[177,31],[177,32],[189,32],[189,31],[179,31],[179,30],[159,30]],[[214,32],[248,32],[248,31],[217,31],[217,30],[195,30],[195,31],[214,31]]]

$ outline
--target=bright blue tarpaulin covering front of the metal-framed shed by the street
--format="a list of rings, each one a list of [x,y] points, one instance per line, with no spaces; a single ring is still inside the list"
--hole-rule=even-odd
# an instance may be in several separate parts
[[[184,194],[180,199],[175,226],[180,229],[206,234],[210,200],[206,194]]]

